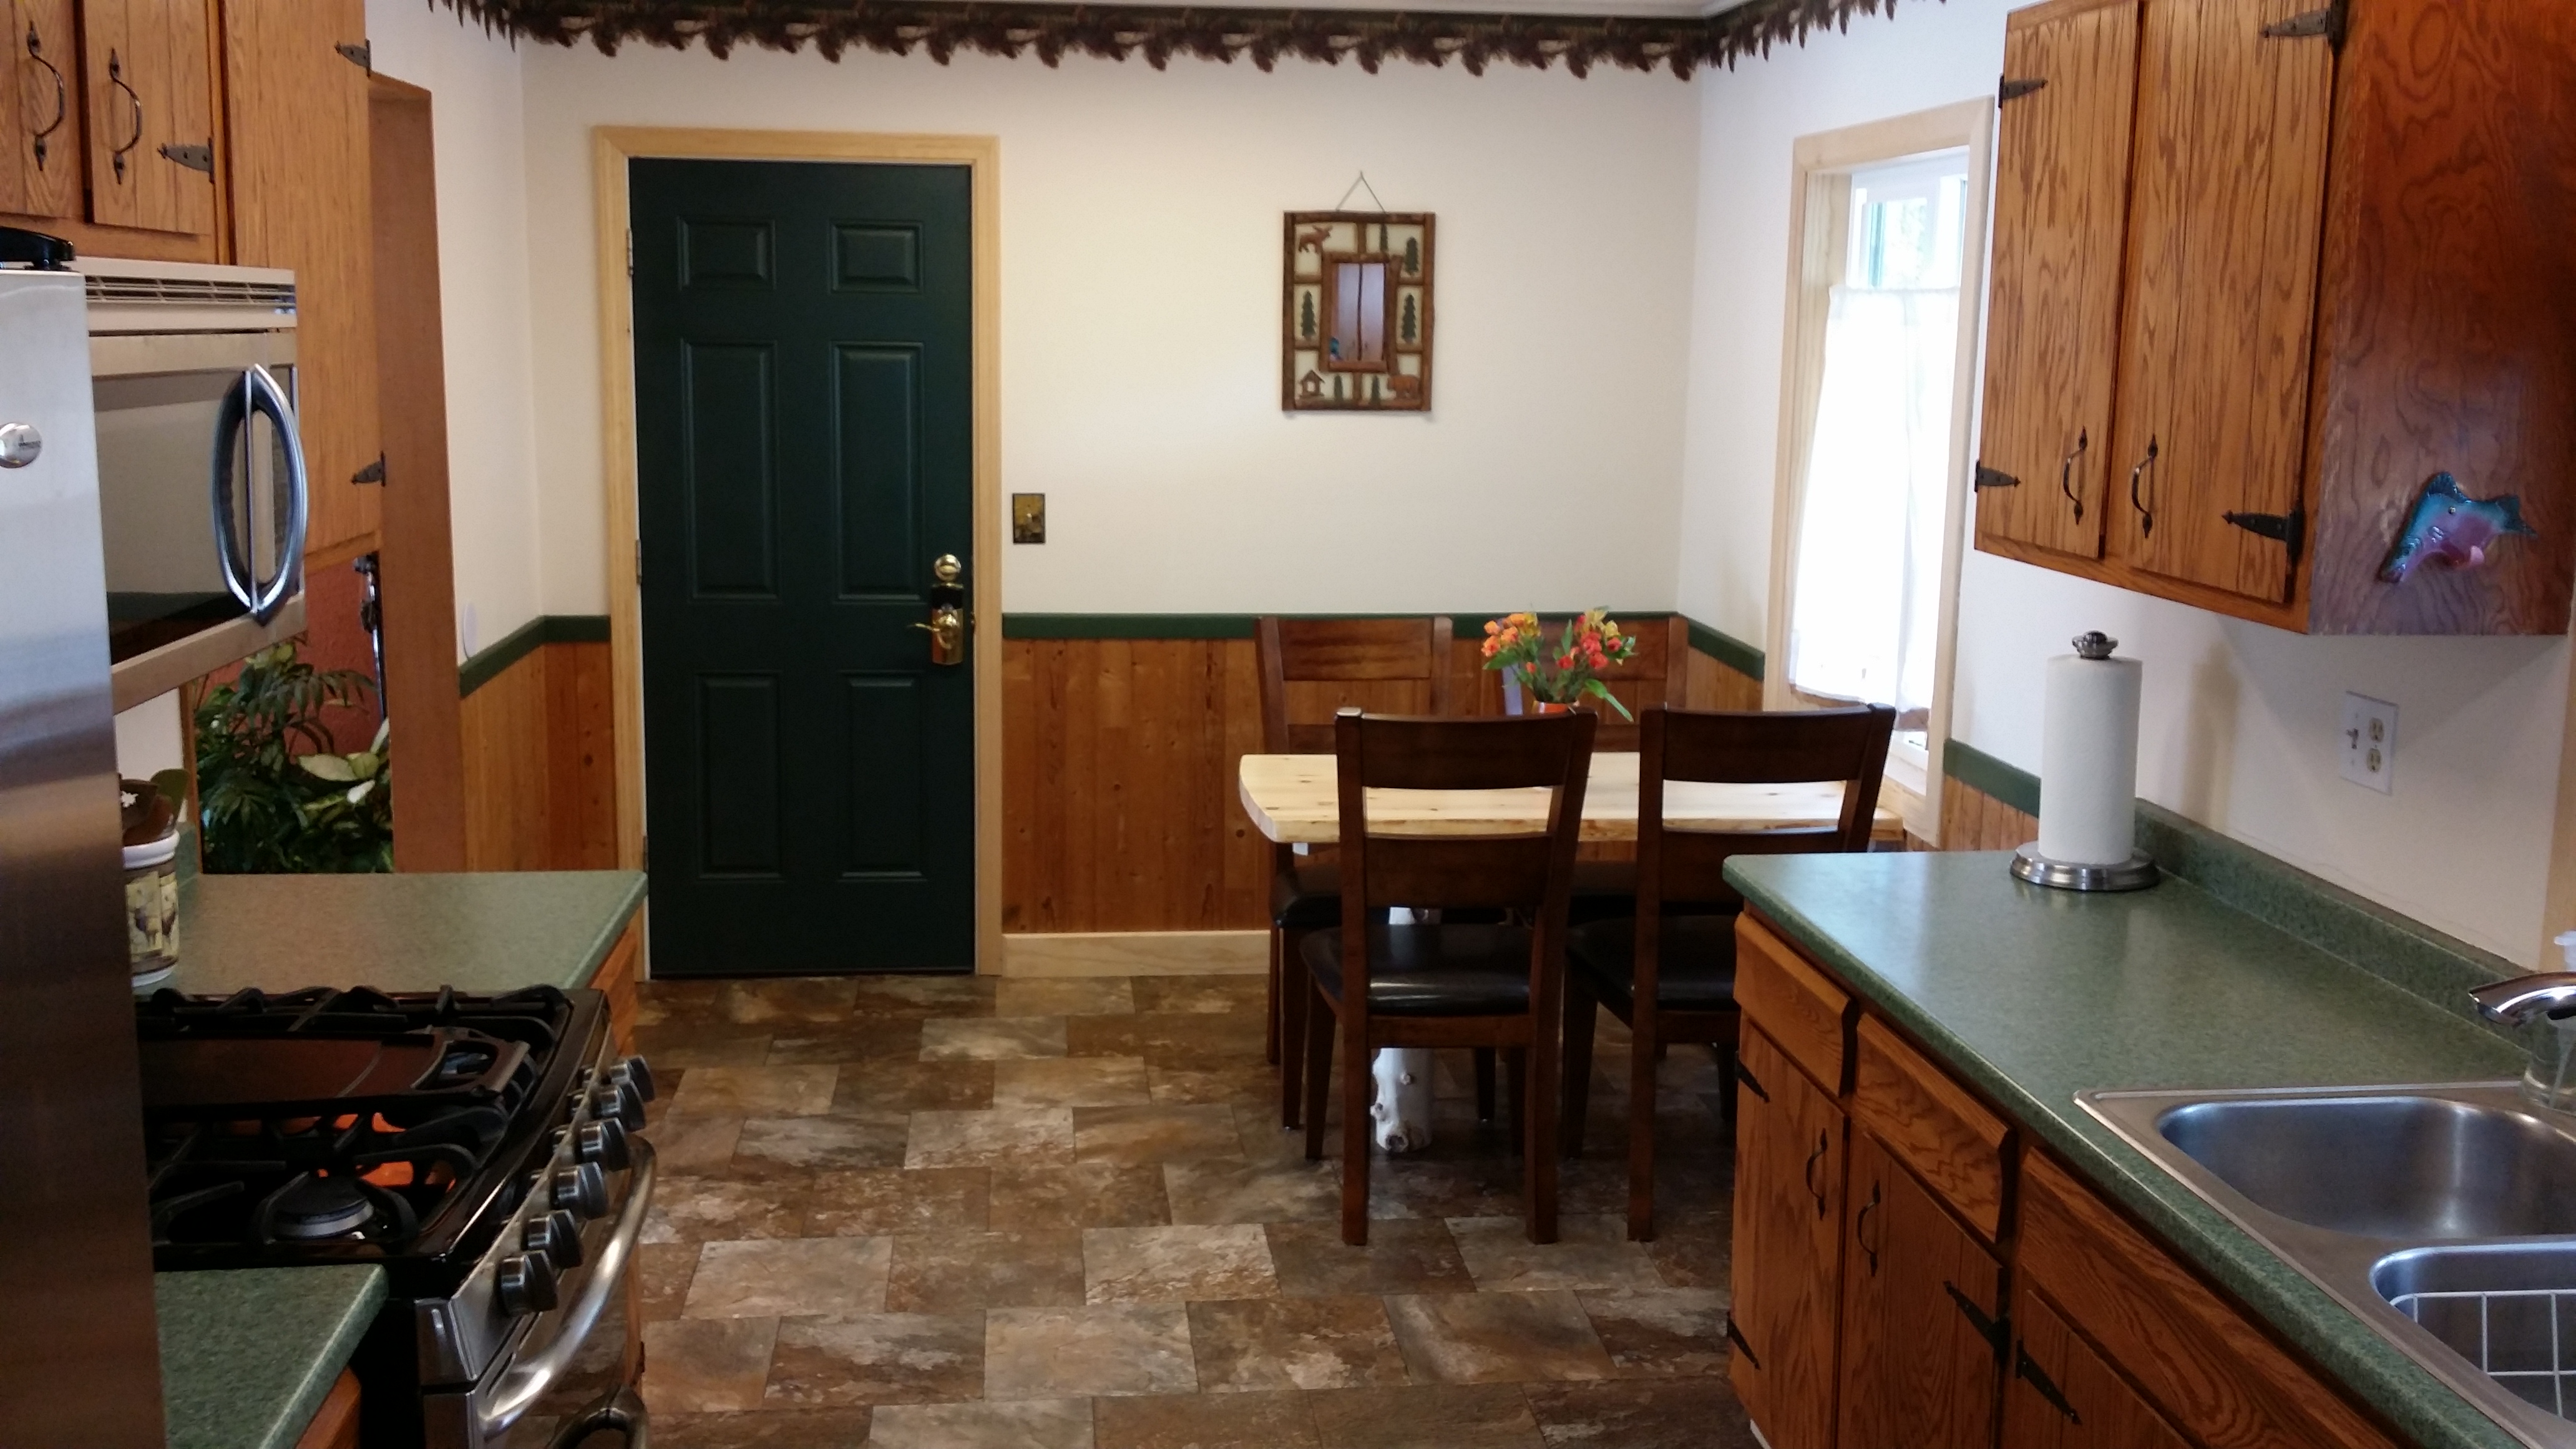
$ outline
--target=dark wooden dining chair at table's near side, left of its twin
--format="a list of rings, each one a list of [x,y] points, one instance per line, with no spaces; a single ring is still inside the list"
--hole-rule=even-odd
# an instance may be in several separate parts
[[[1381,1047],[1486,1047],[1525,1060],[1522,1176],[1530,1243],[1556,1240],[1556,1052],[1566,890],[1592,771],[1589,714],[1535,719],[1334,717],[1342,926],[1306,936],[1306,1158],[1324,1155],[1342,1034],[1342,1243],[1368,1243],[1368,1098]],[[1535,833],[1378,835],[1370,789],[1548,789]],[[1497,923],[1381,920],[1391,905],[1502,910]]]

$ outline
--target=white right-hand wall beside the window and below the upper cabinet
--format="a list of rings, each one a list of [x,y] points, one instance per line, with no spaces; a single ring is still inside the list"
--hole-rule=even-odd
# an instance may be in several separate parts
[[[1698,85],[1685,614],[1765,637],[1790,142],[1991,93],[2009,8],[1901,5]],[[2035,771],[2040,663],[2105,629],[2146,660],[2143,797],[2540,959],[2566,639],[2306,639],[1973,552],[1958,629],[1953,737]],[[2388,797],[2336,776],[2347,688],[2401,709]]]

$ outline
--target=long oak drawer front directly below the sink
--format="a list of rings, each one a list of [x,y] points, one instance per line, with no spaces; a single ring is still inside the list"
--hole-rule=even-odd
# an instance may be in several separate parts
[[[2396,1449],[2066,1168],[2025,1152],[2020,1269],[2208,1449]]]

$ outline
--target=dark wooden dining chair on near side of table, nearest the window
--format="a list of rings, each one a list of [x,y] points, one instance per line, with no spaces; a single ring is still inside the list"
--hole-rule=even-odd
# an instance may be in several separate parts
[[[1628,1238],[1654,1238],[1654,1067],[1672,1042],[1736,1042],[1736,913],[1728,856],[1868,851],[1896,712],[1793,709],[1638,717],[1636,915],[1569,933],[1564,1142],[1582,1155],[1600,1006],[1628,1024]],[[1664,828],[1667,781],[1842,781],[1842,817],[1795,830]],[[1649,931],[1646,923],[1654,923]]]

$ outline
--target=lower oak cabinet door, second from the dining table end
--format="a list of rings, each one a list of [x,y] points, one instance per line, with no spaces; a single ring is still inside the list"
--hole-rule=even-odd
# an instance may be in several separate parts
[[[1868,1132],[1852,1132],[1837,1449],[1986,1449],[2002,1266]]]

